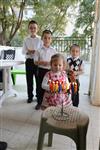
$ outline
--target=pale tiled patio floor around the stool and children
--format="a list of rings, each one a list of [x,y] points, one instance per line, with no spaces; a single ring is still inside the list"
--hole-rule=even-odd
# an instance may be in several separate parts
[[[90,104],[88,95],[89,68],[85,67],[85,74],[80,77],[80,105],[89,115],[90,123],[87,132],[87,150],[98,150],[100,138],[100,107]],[[88,70],[88,71],[87,71]],[[23,79],[23,80],[22,80]],[[19,95],[9,97],[0,108],[0,141],[8,143],[7,150],[36,150],[41,110],[34,109],[36,102],[26,103],[25,77],[17,77],[14,87]],[[75,150],[74,142],[65,136],[54,135],[53,146],[47,147],[45,138],[43,150]]]

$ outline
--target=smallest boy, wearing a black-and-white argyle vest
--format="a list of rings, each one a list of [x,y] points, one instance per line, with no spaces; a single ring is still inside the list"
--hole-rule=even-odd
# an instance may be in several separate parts
[[[77,44],[73,44],[70,47],[71,56],[67,58],[68,63],[68,75],[69,81],[75,78],[77,83],[77,92],[74,94],[72,92],[72,102],[73,106],[78,107],[79,105],[79,75],[84,72],[83,61],[80,59],[80,47]]]

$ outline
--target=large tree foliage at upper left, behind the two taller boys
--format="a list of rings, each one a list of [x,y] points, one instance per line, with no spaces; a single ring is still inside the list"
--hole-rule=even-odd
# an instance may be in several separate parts
[[[16,39],[21,43],[27,34],[27,23],[30,19],[38,22],[40,35],[44,29],[50,29],[54,35],[63,35],[68,21],[67,9],[77,1],[0,0],[0,44],[11,44]],[[34,15],[24,19],[23,12],[27,6],[30,6]]]

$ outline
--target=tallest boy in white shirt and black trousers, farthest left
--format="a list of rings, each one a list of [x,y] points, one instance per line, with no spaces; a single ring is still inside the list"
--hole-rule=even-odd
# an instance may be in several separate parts
[[[22,53],[26,57],[26,81],[27,81],[27,103],[33,101],[33,75],[36,80],[36,95],[37,95],[37,65],[34,64],[35,53],[41,47],[42,40],[37,36],[38,24],[32,20],[28,24],[30,35],[24,40]]]

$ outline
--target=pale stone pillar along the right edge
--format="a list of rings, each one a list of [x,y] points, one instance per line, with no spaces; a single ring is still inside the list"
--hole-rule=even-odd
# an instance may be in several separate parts
[[[96,1],[95,29],[90,76],[90,100],[100,106],[100,0]]]

